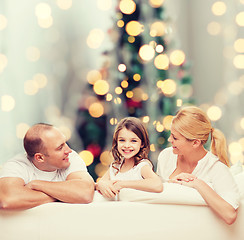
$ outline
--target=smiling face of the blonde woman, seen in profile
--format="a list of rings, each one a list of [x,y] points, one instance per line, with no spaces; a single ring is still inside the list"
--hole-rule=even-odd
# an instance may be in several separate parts
[[[184,155],[192,150],[192,141],[187,140],[174,127],[171,127],[171,135],[168,141],[172,144],[174,154]]]

